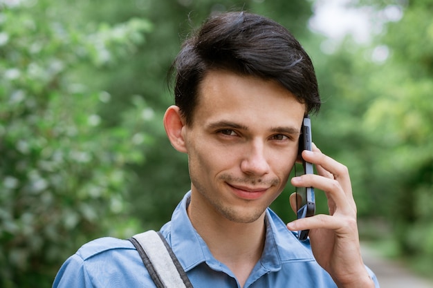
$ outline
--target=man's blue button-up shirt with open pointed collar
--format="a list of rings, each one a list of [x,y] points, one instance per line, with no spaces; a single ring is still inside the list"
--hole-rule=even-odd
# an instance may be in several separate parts
[[[187,215],[190,193],[160,230],[169,242],[192,285],[240,287],[234,274],[216,260]],[[368,269],[369,270],[369,269]],[[374,273],[369,270],[376,287]],[[128,240],[100,238],[84,244],[57,273],[53,287],[155,287],[138,252]],[[300,242],[270,209],[266,211],[266,241],[261,259],[246,280],[248,288],[337,287],[313,257],[308,241]]]

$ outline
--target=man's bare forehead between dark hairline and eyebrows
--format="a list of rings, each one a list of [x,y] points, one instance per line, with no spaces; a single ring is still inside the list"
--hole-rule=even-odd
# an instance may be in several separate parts
[[[212,70],[199,86],[193,122],[302,122],[306,108],[276,81]],[[277,125],[278,126],[278,125]]]

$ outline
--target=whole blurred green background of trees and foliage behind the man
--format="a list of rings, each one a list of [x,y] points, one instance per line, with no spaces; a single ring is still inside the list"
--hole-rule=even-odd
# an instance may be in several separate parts
[[[432,0],[0,0],[0,287],[50,287],[85,242],[169,220],[190,181],[167,70],[208,15],[241,9],[311,55],[313,140],[349,167],[362,241],[431,277]]]

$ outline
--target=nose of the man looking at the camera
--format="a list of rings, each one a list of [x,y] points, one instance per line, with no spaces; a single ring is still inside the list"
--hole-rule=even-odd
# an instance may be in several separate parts
[[[269,173],[265,145],[256,140],[250,143],[241,161],[241,170],[248,175],[262,176]]]

